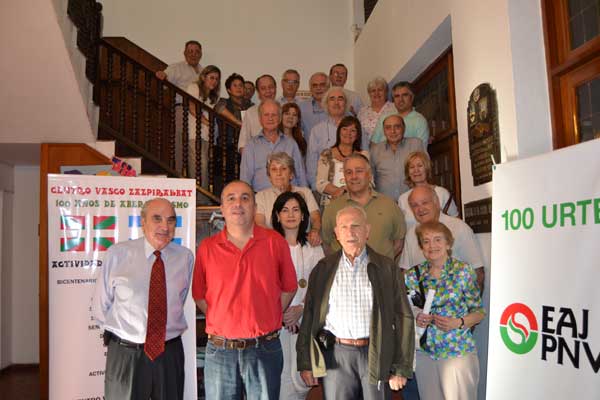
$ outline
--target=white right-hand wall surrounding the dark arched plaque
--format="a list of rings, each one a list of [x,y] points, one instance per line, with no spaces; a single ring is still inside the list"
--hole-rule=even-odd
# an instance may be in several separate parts
[[[453,46],[461,189],[463,201],[470,202],[492,195],[491,183],[473,185],[469,159],[465,110],[480,83],[496,90],[503,162],[552,149],[540,2],[379,0],[356,44],[356,82],[365,85],[375,75],[412,80],[435,60],[444,39]],[[487,307],[491,235],[477,236],[486,263]],[[480,397],[485,393],[488,325],[485,319],[476,330]]]

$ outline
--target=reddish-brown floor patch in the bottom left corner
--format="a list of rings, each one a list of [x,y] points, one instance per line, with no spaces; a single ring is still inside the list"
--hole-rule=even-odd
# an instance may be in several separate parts
[[[12,366],[0,372],[1,400],[38,400],[40,398],[38,366]]]

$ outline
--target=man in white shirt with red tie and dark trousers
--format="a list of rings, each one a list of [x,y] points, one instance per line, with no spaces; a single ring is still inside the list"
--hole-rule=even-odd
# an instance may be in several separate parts
[[[168,200],[147,201],[141,214],[144,237],[111,246],[96,281],[92,313],[108,346],[104,397],[182,400],[194,256],[172,241],[177,217]]]

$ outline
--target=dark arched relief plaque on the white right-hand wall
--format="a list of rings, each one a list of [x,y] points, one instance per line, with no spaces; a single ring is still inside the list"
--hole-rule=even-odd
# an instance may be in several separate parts
[[[500,134],[496,92],[482,83],[471,93],[467,107],[469,155],[473,185],[491,182],[492,157],[500,162]]]

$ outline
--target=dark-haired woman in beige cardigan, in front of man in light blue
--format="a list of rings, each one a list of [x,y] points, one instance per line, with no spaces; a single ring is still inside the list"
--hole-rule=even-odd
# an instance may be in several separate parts
[[[346,191],[344,180],[344,159],[354,153],[369,158],[369,152],[361,150],[362,128],[358,118],[349,115],[337,127],[335,144],[324,150],[317,164],[317,191],[321,193],[321,206]]]

